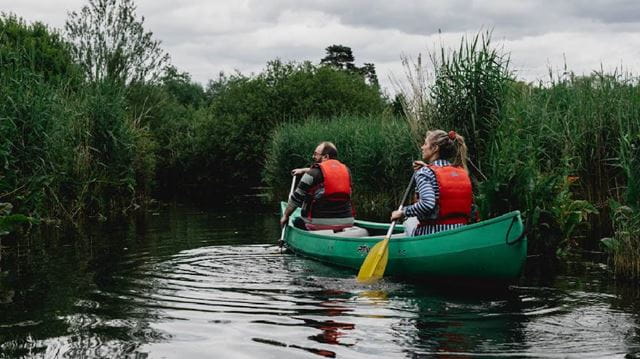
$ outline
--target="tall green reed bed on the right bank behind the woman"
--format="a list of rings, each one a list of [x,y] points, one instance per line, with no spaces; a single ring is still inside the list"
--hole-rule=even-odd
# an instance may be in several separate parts
[[[532,253],[597,249],[598,239],[614,231],[627,236],[631,219],[612,221],[617,217],[609,203],[624,203],[635,218],[637,209],[629,204],[638,198],[632,175],[638,171],[629,159],[639,156],[637,145],[621,141],[635,143],[640,133],[637,78],[568,72],[545,83],[522,83],[512,75],[508,57],[491,45],[490,33],[463,39],[458,49],[431,58],[433,80],[421,87],[430,96],[422,94],[427,100],[416,106],[415,94],[403,93],[411,104],[405,111],[422,109],[424,124],[466,136],[484,217],[521,210]],[[625,243],[640,247],[635,239]],[[619,263],[640,262],[631,248],[615,257]]]

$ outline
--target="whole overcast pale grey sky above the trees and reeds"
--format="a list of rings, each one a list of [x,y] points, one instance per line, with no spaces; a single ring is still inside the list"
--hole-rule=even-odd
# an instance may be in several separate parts
[[[82,0],[0,0],[0,11],[61,29]],[[638,0],[138,0],[145,29],[180,71],[206,84],[220,71],[257,73],[267,61],[310,60],[332,44],[374,63],[382,86],[402,79],[401,55],[459,45],[493,29],[517,77],[548,79],[549,68],[589,74],[603,67],[640,74]],[[439,33],[440,31],[440,33]]]

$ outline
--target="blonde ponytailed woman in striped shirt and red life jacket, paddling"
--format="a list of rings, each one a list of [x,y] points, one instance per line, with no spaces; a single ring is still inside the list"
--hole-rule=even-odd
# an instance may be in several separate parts
[[[464,137],[442,130],[427,132],[421,147],[423,161],[413,174],[418,200],[391,213],[391,220],[416,217],[410,236],[436,233],[469,223],[473,204]],[[426,163],[425,163],[426,162]]]

